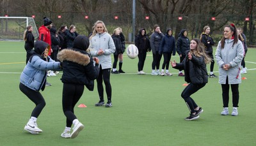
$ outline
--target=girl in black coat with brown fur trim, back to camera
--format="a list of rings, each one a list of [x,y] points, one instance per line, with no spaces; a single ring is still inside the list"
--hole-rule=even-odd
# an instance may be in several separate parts
[[[61,77],[61,82],[63,82],[62,106],[67,117],[66,128],[61,133],[63,138],[76,138],[84,128],[83,124],[74,115],[74,106],[83,94],[84,85],[88,84],[88,80],[95,80],[99,74],[99,59],[97,57],[90,58],[90,54],[86,52],[88,46],[88,38],[79,35],[74,40],[73,48],[62,50],[58,54],[58,59],[63,62],[63,75]],[[74,128],[70,133],[72,124],[74,124]]]

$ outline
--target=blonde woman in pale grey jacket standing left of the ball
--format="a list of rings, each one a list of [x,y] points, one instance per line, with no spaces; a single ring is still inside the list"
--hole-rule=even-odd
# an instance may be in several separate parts
[[[106,107],[111,107],[111,96],[112,96],[112,89],[110,84],[110,73],[111,73],[111,54],[113,54],[116,50],[115,43],[108,34],[108,29],[106,28],[104,22],[97,21],[93,26],[92,36],[90,36],[90,46],[89,46],[90,53],[99,58],[99,76],[97,78],[97,89],[99,93],[100,101],[95,104],[95,106],[102,106],[104,105],[104,89],[102,82],[104,80],[104,84],[106,86],[106,93],[108,96],[108,102],[105,105]]]

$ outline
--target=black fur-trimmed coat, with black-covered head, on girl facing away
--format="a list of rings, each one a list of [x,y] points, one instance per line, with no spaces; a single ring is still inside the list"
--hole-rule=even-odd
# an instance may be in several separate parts
[[[74,40],[74,47],[64,49],[58,54],[58,59],[63,62],[63,75],[61,82],[68,84],[89,84],[99,74],[99,64],[93,66],[93,59],[89,57],[86,49],[89,40],[84,35],[79,35]]]

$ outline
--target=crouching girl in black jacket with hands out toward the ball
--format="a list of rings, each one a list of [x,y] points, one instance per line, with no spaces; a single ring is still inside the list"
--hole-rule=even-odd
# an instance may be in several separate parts
[[[182,62],[171,62],[173,68],[184,69],[185,81],[189,83],[181,93],[182,98],[191,112],[185,120],[198,119],[199,113],[203,112],[202,108],[196,105],[190,96],[204,87],[208,82],[206,63],[209,62],[211,62],[211,58],[205,54],[204,47],[197,38],[191,40],[190,51]]]

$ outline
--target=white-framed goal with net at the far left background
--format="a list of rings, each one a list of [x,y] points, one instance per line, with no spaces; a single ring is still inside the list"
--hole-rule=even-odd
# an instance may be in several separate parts
[[[33,26],[35,40],[38,38],[38,30],[32,17],[0,17],[0,40],[23,40],[27,26]]]

